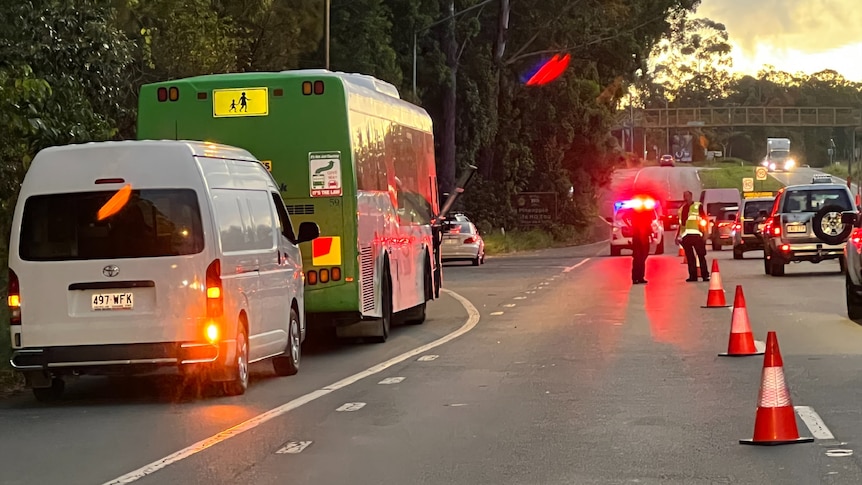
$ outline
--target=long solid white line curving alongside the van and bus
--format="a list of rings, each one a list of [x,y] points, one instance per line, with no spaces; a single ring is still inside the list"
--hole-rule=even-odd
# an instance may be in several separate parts
[[[467,321],[464,322],[464,325],[462,325],[461,328],[459,328],[458,330],[455,330],[454,332],[452,332],[448,335],[444,335],[443,337],[440,337],[439,339],[437,339],[431,343],[427,343],[421,347],[416,347],[415,349],[404,352],[403,354],[401,354],[397,357],[393,357],[392,359],[389,359],[385,362],[381,362],[381,363],[379,363],[373,367],[369,367],[368,369],[365,369],[362,372],[359,372],[357,374],[353,374],[350,377],[344,378],[344,379],[342,379],[336,383],[330,384],[330,385],[328,385],[322,389],[312,391],[312,392],[310,392],[304,396],[301,396],[301,397],[294,399],[293,401],[282,404],[281,406],[278,406],[276,408],[270,409],[269,411],[267,411],[263,414],[259,414],[255,417],[249,419],[248,421],[240,423],[240,424],[238,424],[232,428],[228,428],[228,429],[226,429],[226,430],[224,430],[218,434],[210,436],[209,438],[205,438],[203,440],[200,440],[197,443],[194,443],[193,445],[190,445],[186,448],[183,448],[182,450],[179,450],[179,451],[172,453],[172,454],[170,454],[164,458],[156,460],[156,461],[154,461],[148,465],[144,465],[141,468],[138,468],[137,470],[129,472],[129,473],[127,473],[121,477],[118,477],[118,478],[115,478],[115,479],[110,480],[108,482],[105,482],[104,485],[120,485],[120,484],[124,484],[124,483],[136,482],[136,481],[140,480],[141,478],[144,478],[148,475],[152,475],[153,473],[155,473],[155,472],[157,472],[157,471],[159,471],[159,470],[161,470],[161,469],[163,469],[169,465],[172,465],[172,464],[174,464],[180,460],[186,459],[192,455],[200,453],[201,451],[204,451],[207,448],[211,448],[211,447],[213,447],[213,446],[215,446],[215,445],[217,445],[223,441],[226,441],[230,438],[233,438],[234,436],[237,436],[237,435],[244,433],[248,430],[254,429],[254,428],[266,423],[267,421],[270,421],[274,418],[277,418],[283,414],[286,414],[286,413],[302,406],[303,404],[308,404],[311,401],[314,401],[316,399],[320,399],[321,397],[332,393],[333,391],[337,391],[338,389],[347,387],[347,386],[349,386],[349,385],[351,385],[357,381],[365,379],[366,377],[380,373],[380,372],[392,367],[393,365],[396,365],[400,362],[404,362],[405,360],[407,360],[411,357],[417,356],[421,353],[427,352],[428,350],[433,349],[434,347],[439,347],[439,346],[441,346],[447,342],[451,342],[452,340],[455,340],[456,338],[460,337],[461,335],[464,335],[465,333],[469,332],[470,330],[473,330],[473,328],[479,323],[479,318],[480,318],[479,310],[477,310],[476,307],[473,306],[472,303],[470,303],[470,300],[464,298],[463,296],[459,295],[458,293],[455,293],[454,291],[451,291],[451,290],[447,290],[445,288],[442,288],[442,290],[446,294],[451,296],[452,298],[455,298],[456,300],[458,300],[458,302],[461,303],[461,305],[463,305],[464,308],[467,310],[467,314],[468,314]]]

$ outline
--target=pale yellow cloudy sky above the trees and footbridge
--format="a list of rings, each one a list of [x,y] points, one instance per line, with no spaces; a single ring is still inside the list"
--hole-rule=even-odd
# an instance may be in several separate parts
[[[727,27],[736,72],[755,75],[771,64],[862,81],[860,0],[702,0],[696,16]]]

